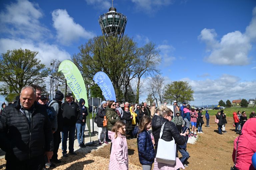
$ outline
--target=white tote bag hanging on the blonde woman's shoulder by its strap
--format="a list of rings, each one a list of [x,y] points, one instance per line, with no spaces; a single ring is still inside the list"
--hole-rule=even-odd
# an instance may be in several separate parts
[[[165,123],[161,127],[160,138],[157,145],[156,161],[160,163],[165,163],[168,165],[174,165],[176,162],[176,144],[175,140],[165,141],[161,139],[163,135]]]

